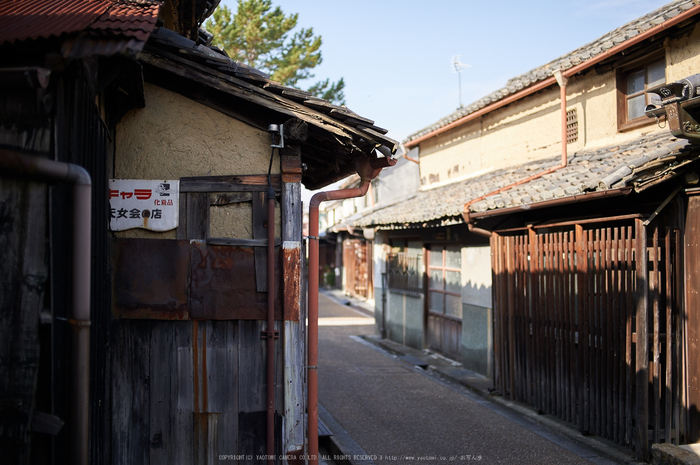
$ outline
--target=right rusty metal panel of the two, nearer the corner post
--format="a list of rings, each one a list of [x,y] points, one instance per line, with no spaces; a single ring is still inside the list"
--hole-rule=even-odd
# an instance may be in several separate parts
[[[276,251],[279,263],[279,250]],[[195,320],[264,320],[267,293],[257,292],[253,248],[191,243],[190,317]],[[275,282],[280,282],[275,267]],[[282,318],[275,286],[275,319]]]

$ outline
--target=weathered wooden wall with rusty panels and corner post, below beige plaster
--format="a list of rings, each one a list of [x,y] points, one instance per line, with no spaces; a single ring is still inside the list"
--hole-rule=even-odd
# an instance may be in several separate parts
[[[214,463],[221,455],[255,462],[265,454],[267,346],[261,334],[267,323],[256,296],[264,302],[267,292],[277,296],[275,330],[281,335],[274,343],[275,451],[303,450],[300,184],[280,183],[280,175],[272,181],[282,218],[275,226],[282,237],[273,245],[275,289],[266,283],[265,176],[183,178],[181,240],[115,239],[114,310],[121,319],[112,334],[113,464]],[[224,197],[251,205],[252,238],[210,237],[212,199],[220,204],[216,199]],[[137,250],[143,266],[124,264]],[[227,250],[231,257],[245,251],[249,257],[224,259]],[[128,273],[129,266],[137,269]],[[175,277],[134,284],[150,267],[172,268]],[[202,312],[202,305],[208,310]]]

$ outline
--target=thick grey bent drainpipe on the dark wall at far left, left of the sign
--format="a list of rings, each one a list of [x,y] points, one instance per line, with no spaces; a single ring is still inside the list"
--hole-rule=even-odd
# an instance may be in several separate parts
[[[0,151],[0,168],[32,180],[73,184],[73,463],[87,465],[89,453],[90,393],[90,221],[92,180],[81,166]]]

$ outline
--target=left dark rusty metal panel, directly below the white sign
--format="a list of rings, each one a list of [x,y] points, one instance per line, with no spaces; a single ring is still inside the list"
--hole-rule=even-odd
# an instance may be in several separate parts
[[[189,241],[114,239],[113,313],[120,318],[189,318]]]

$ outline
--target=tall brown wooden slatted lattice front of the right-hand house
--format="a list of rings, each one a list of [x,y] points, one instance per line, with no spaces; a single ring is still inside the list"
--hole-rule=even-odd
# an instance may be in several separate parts
[[[682,243],[601,221],[493,234],[496,387],[645,458],[686,435]]]

